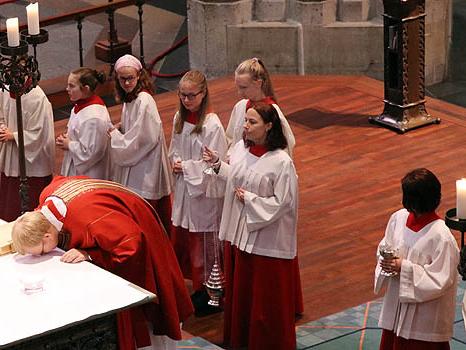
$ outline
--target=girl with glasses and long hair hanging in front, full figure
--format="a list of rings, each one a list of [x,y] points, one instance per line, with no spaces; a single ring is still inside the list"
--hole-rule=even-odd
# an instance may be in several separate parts
[[[196,315],[202,316],[219,311],[207,305],[203,284],[212,269],[223,197],[207,193],[202,151],[209,147],[223,158],[227,144],[218,116],[210,111],[207,80],[201,72],[192,70],[181,78],[178,97],[169,151],[175,174],[172,241],[185,278],[193,282]]]

